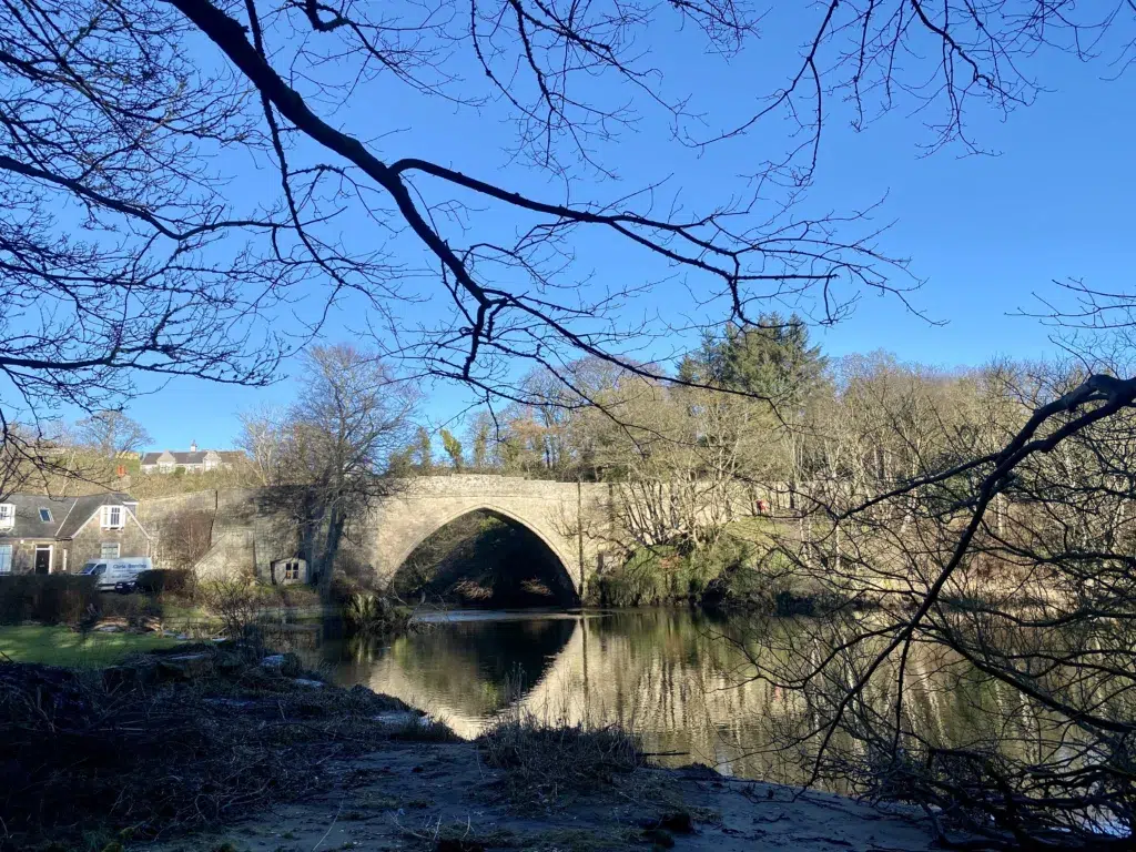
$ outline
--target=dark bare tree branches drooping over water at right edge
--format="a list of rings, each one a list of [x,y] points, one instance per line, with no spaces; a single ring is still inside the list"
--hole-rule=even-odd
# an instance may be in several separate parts
[[[928,807],[949,836],[1125,847],[1136,381],[877,360],[840,392],[770,532],[825,618],[763,634],[771,653],[750,658],[801,694],[783,747],[812,780]],[[936,724],[944,690],[971,730]]]

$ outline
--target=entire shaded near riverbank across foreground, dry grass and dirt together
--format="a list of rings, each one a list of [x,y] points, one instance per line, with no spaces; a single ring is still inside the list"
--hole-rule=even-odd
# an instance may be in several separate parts
[[[616,728],[515,717],[458,741],[292,655],[200,643],[100,671],[0,665],[0,849],[932,849],[835,795],[661,769]]]

